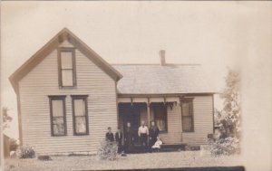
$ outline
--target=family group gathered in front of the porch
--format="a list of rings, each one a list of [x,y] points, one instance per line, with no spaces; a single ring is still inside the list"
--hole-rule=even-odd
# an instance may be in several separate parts
[[[160,148],[162,141],[159,137],[160,130],[155,125],[154,121],[151,121],[151,128],[148,128],[145,125],[144,121],[141,121],[141,127],[138,128],[138,138],[140,140],[141,144],[141,151],[142,152],[148,152],[152,149],[158,149]],[[108,132],[106,133],[106,140],[108,141],[116,141],[118,144],[118,152],[121,153],[122,151],[125,152],[132,152],[134,151],[134,132],[131,128],[131,123],[127,123],[127,128],[124,131],[124,146],[122,146],[122,133],[121,129],[118,128],[117,132],[115,133],[115,136],[113,136],[112,128],[108,128]]]

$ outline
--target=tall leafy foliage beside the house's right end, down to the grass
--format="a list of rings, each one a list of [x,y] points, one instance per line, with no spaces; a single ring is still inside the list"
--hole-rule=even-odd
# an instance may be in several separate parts
[[[219,126],[219,137],[209,139],[210,152],[214,156],[239,153],[240,138],[240,74],[228,69],[226,87],[220,93],[223,109],[215,110],[215,124]]]

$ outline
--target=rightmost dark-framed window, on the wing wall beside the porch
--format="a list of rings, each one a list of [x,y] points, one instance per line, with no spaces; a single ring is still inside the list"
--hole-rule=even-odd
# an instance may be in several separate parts
[[[192,100],[181,101],[182,130],[184,132],[194,131]]]

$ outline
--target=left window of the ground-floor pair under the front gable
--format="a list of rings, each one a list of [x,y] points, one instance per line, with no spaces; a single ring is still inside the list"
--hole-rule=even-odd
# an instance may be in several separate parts
[[[51,135],[66,135],[65,96],[49,96]]]

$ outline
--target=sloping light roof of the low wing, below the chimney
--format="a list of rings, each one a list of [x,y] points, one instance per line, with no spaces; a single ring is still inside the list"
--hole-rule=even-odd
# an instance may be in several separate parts
[[[119,94],[214,93],[215,88],[199,64],[114,64],[123,77]]]

